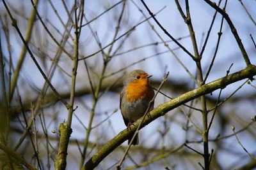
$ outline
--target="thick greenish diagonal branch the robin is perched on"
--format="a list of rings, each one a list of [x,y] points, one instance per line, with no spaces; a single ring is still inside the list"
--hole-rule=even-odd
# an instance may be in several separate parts
[[[177,108],[178,106],[187,103],[195,99],[196,97],[203,96],[205,94],[209,94],[217,89],[224,89],[227,85],[230,85],[236,81],[243,80],[244,78],[252,78],[256,75],[256,66],[251,65],[246,67],[245,69],[238,71],[236,73],[230,74],[218,80],[212,81],[211,83],[207,83],[202,85],[202,87],[198,87],[197,89],[190,90],[185,94],[172,99],[166,103],[160,104],[154,110],[150,111],[151,118],[146,117],[143,123],[141,124],[141,128],[148,125],[150,122],[156,120],[163,115],[165,115],[168,111]],[[113,152],[115,148],[124,143],[125,140],[131,136],[134,131],[136,131],[138,125],[140,124],[141,119],[137,120],[134,123],[134,126],[131,127],[131,131],[125,129],[120,132],[115,138],[111,139],[105,146],[103,146],[93,157],[91,157],[88,162],[82,167],[82,169],[93,169],[96,167],[105,157],[108,156],[109,153]]]

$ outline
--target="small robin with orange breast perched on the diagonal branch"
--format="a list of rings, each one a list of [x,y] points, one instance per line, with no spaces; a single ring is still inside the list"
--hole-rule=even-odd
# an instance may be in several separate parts
[[[124,80],[124,87],[120,94],[120,110],[128,129],[133,122],[143,117],[149,102],[154,97],[154,90],[148,81],[148,78],[151,76],[145,71],[136,69],[129,73]],[[154,101],[148,112],[153,108]],[[132,136],[128,139],[128,145],[131,143],[131,139]],[[138,145],[138,143],[139,138],[137,134],[136,138],[132,141],[132,145]]]

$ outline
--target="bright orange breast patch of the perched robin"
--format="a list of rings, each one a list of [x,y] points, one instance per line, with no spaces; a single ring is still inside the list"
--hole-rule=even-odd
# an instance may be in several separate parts
[[[148,102],[154,97],[154,90],[148,84],[148,80],[129,83],[125,91],[125,99],[129,102],[138,99],[146,99]]]

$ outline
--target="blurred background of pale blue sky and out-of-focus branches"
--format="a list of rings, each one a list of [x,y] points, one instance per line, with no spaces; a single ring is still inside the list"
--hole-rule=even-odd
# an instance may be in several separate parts
[[[215,2],[221,2],[221,9],[226,3]],[[10,0],[6,3],[40,67],[68,102],[72,74],[70,58],[74,55],[75,43],[74,1],[33,1],[37,4],[40,18],[36,16],[31,1]],[[164,29],[194,55],[188,26],[175,1],[148,0],[145,3],[156,14]],[[179,3],[186,13],[185,1]],[[83,15],[83,20],[74,101],[76,110],[72,118],[67,169],[79,169],[81,162],[90,159],[99,148],[126,128],[119,110],[119,95],[124,76],[133,69],[143,69],[152,74],[151,84],[156,88],[164,74],[170,71],[161,89],[170,97],[180,96],[197,87],[188,74],[189,71],[197,77],[195,61],[164,34],[141,1],[84,1],[83,13],[81,1],[77,1],[76,6],[77,15]],[[226,6],[226,12],[252,64],[256,64],[256,48],[252,40],[256,38],[255,6],[256,1],[227,1]],[[189,1],[189,10],[199,52],[204,49],[201,65],[203,76],[206,77],[205,83],[226,76],[229,68],[229,74],[244,69],[246,64],[243,55],[226,20],[221,22],[222,15],[217,13],[214,18],[215,10],[205,1]],[[47,86],[35,62],[26,52],[3,2],[0,3],[0,15],[3,60],[0,86],[6,89],[6,93],[3,90],[0,93],[1,138],[6,136],[6,145],[35,167],[39,168],[40,164],[41,169],[54,169],[59,144],[58,127],[61,122],[67,121],[67,108]],[[203,48],[212,18],[214,23]],[[222,32],[221,36],[218,36],[218,32]],[[234,135],[238,131],[237,138],[241,144],[255,155],[256,124],[251,120],[256,115],[255,86],[255,81],[241,80],[228,85],[221,94],[220,90],[216,90],[206,95],[209,122],[216,103],[221,103],[209,131],[209,152],[214,150],[211,169],[246,169],[249,165],[252,166],[247,169],[256,167],[256,160],[244,151]],[[8,110],[4,108],[4,96],[8,99]],[[154,106],[169,100],[158,94]],[[204,165],[203,157],[184,146],[187,143],[198,152],[204,152],[202,135],[185,116],[188,114],[195,125],[202,129],[200,99],[187,104],[191,107],[175,108],[141,129],[140,145],[131,147],[122,168],[202,169],[198,162]],[[35,121],[30,133],[24,136],[26,124],[33,118],[33,114]],[[92,128],[90,136],[87,135],[89,126]],[[84,149],[86,140],[89,143]],[[40,163],[36,160],[31,141],[37,146]],[[115,169],[126,147],[127,141],[102,160],[97,169]],[[86,150],[84,160],[81,156],[83,150]],[[8,168],[5,160],[10,157],[2,151],[0,155],[4,160],[0,164],[1,168]]]

